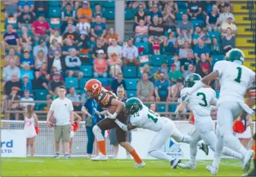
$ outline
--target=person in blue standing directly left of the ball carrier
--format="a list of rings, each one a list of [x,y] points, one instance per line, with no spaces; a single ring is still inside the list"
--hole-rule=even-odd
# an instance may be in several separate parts
[[[102,112],[98,103],[91,98],[86,100],[84,106],[82,106],[82,111],[86,114],[85,126],[88,138],[87,155],[89,156],[89,158],[91,158],[91,155],[93,153],[93,143],[95,139],[95,136],[93,134],[93,126],[95,126],[95,124],[97,124],[98,122],[100,122],[100,120],[104,118],[104,112]],[[98,115],[96,114],[96,111]],[[102,131],[102,136],[104,136],[104,131]]]

